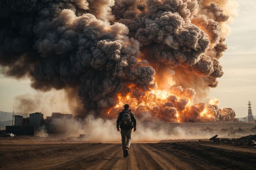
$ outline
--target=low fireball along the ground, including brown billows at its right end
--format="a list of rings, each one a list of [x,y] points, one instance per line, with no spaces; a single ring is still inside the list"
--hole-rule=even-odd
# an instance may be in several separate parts
[[[236,116],[231,108],[219,109],[218,99],[211,99],[208,105],[192,104],[195,91],[192,88],[172,87],[170,91],[138,91],[138,88],[122,96],[118,94],[119,103],[108,111],[108,115],[118,114],[128,103],[140,119],[161,120],[163,122],[205,122],[229,121]]]

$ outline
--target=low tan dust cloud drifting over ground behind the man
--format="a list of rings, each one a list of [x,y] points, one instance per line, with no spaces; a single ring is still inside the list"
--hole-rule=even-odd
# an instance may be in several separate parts
[[[50,125],[54,129],[54,134],[47,132],[47,129],[42,129],[40,130],[41,137],[49,137],[52,140],[63,139],[90,143],[119,143],[121,141],[120,132],[116,129],[115,119],[94,118],[93,116],[88,116],[84,120],[56,118],[52,120]],[[255,125],[239,124],[238,122],[236,124],[236,122],[153,123],[138,121],[137,130],[132,131],[132,142],[208,139],[215,134],[228,138],[241,137],[255,131],[253,126]]]

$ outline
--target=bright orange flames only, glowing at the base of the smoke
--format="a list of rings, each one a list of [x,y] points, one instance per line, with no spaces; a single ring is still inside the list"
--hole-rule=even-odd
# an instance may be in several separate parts
[[[117,94],[117,104],[108,110],[107,115],[116,115],[123,110],[124,104],[128,103],[135,116],[151,114],[156,119],[163,122],[187,122],[192,111],[199,111],[198,121],[211,121],[214,115],[207,110],[203,103],[194,104],[193,99],[188,99],[182,94],[172,94],[171,90],[151,90],[140,91],[139,95],[137,86],[129,84],[130,92],[123,96]],[[135,92],[135,93],[133,93]],[[218,104],[218,99],[211,99],[209,104]],[[194,110],[193,110],[194,109]]]

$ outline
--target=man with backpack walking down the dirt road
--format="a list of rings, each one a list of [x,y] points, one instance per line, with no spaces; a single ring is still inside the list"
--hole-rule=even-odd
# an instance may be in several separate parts
[[[132,128],[134,128],[133,131],[136,131],[136,119],[128,104],[125,104],[124,110],[119,113],[116,127],[118,132],[121,129],[123,153],[124,157],[127,157],[129,156],[128,150],[131,145]]]

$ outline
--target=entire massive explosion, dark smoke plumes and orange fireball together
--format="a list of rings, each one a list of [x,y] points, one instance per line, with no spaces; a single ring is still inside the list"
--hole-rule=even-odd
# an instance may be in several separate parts
[[[128,103],[152,121],[233,120],[194,103],[217,87],[233,0],[0,0],[0,64],[36,90],[77,90],[84,112]],[[72,94],[74,95],[74,94]]]

